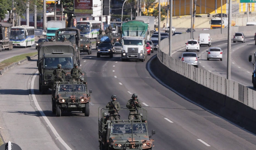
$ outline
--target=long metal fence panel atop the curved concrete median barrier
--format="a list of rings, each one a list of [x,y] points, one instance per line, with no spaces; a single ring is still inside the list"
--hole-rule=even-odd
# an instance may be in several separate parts
[[[157,57],[162,64],[166,65],[172,71],[179,73],[200,85],[210,88],[211,90],[238,100],[243,104],[256,109],[255,90],[172,58],[168,54],[163,53],[161,50],[158,50]]]

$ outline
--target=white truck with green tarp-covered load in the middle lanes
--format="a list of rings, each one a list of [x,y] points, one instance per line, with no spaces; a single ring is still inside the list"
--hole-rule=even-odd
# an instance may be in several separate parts
[[[148,24],[138,20],[127,21],[122,25],[122,61],[133,59],[141,62],[147,56],[146,37]]]

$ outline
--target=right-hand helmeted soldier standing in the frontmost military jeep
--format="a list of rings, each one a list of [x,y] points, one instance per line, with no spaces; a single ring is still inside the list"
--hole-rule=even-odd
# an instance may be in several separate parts
[[[130,109],[129,120],[132,120],[135,116],[136,119],[141,120],[141,116],[137,111],[138,108],[141,108],[141,102],[139,101],[138,95],[133,93],[131,96],[132,99],[129,99],[126,103],[126,107]],[[136,110],[137,109],[137,110]]]

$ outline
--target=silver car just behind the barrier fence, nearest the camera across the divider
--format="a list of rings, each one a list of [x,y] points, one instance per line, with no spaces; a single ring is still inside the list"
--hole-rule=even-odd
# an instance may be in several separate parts
[[[188,64],[194,65],[196,68],[198,68],[199,65],[199,61],[198,61],[198,56],[197,53],[193,53],[193,52],[184,52],[182,53],[181,57],[181,61],[186,62]]]

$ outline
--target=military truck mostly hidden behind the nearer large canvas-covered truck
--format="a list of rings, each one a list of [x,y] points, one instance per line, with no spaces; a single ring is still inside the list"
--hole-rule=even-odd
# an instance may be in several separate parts
[[[58,29],[55,32],[55,40],[63,41],[64,37],[68,36],[68,41],[71,42],[76,50],[77,59],[80,59],[80,30],[75,28]]]

